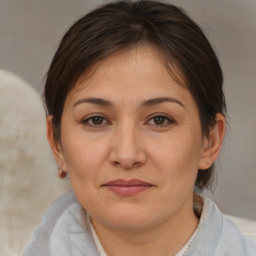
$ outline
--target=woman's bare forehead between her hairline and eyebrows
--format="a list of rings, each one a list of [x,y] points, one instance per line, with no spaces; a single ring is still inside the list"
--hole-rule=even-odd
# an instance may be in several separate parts
[[[182,82],[181,78],[179,80]],[[140,46],[114,52],[98,61],[78,78],[68,96],[110,93],[116,100],[114,94],[122,94],[123,98],[130,94],[148,98],[167,92],[181,99],[190,96],[190,92],[167,71],[159,50],[154,46]]]

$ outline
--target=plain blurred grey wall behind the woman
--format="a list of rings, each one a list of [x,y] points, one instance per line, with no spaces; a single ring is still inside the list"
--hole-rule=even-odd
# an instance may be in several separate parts
[[[107,2],[107,1],[105,1]],[[224,71],[228,133],[214,198],[256,220],[256,0],[173,0],[203,27]],[[0,0],[0,68],[41,92],[61,35],[102,0]]]

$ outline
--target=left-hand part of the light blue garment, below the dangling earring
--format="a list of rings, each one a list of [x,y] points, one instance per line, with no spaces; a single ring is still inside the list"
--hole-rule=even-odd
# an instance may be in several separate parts
[[[67,192],[45,211],[23,256],[97,255],[87,221],[73,191]]]

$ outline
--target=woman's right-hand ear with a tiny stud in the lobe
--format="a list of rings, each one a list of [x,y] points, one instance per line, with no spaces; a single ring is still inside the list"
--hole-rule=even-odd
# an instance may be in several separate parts
[[[203,140],[203,151],[199,161],[199,169],[207,169],[216,160],[225,135],[225,117],[217,113],[216,124],[210,130],[209,136]]]

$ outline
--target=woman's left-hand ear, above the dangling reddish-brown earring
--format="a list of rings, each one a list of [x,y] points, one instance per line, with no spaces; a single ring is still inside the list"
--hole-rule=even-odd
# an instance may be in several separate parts
[[[49,115],[46,118],[46,136],[56,163],[58,166],[61,166],[61,168],[65,168],[63,166],[64,156],[61,151],[60,143],[53,137],[52,115]]]

